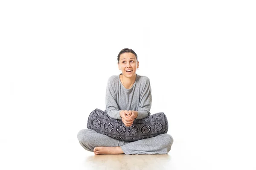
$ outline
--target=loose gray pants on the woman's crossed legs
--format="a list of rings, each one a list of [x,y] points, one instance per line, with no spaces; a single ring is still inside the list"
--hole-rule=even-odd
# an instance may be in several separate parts
[[[93,152],[94,147],[118,147],[125,154],[167,154],[172,147],[173,138],[164,133],[155,137],[141,139],[135,142],[113,139],[109,136],[97,133],[95,130],[80,130],[77,138],[85,150]]]

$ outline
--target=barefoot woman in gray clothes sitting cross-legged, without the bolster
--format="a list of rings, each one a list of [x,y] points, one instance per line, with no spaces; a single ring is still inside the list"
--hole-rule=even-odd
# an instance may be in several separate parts
[[[134,119],[143,119],[150,115],[151,87],[148,77],[136,74],[139,68],[137,54],[132,49],[119,52],[119,76],[108,79],[105,112],[113,119],[122,119],[125,126],[133,124]],[[78,139],[85,150],[99,154],[167,154],[171,150],[173,138],[165,133],[135,142],[113,139],[84,129],[78,133]]]

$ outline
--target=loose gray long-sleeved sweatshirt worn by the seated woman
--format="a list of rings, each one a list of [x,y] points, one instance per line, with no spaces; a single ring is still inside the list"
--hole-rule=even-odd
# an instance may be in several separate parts
[[[126,89],[119,75],[108,79],[106,90],[106,112],[113,119],[122,119],[120,111],[138,111],[136,119],[143,119],[150,115],[151,108],[151,86],[148,77],[136,74],[134,85]]]

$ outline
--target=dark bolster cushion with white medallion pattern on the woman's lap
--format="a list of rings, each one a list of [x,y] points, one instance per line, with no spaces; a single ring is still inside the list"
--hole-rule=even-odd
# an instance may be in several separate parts
[[[135,119],[130,127],[126,127],[122,120],[113,119],[106,112],[95,109],[89,115],[87,128],[114,139],[137,141],[167,133],[168,121],[164,113],[155,113],[144,119]]]

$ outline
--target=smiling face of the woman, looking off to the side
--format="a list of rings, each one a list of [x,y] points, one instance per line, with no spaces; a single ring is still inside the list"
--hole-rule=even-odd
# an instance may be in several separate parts
[[[123,53],[120,55],[118,68],[122,71],[123,76],[131,78],[136,74],[139,62],[137,62],[134,54]]]

